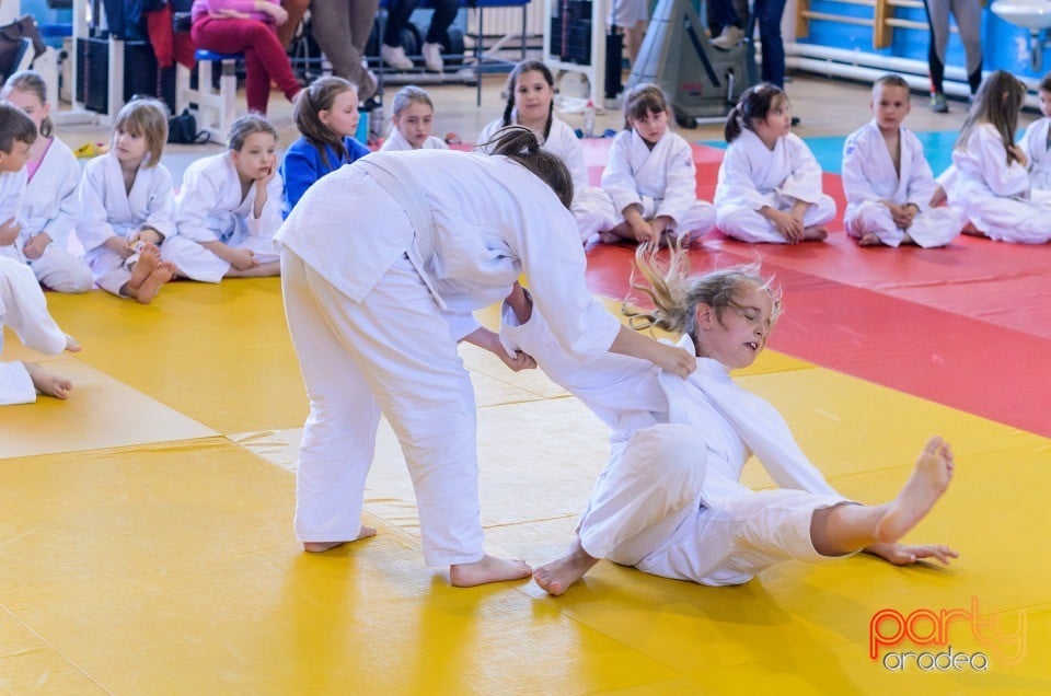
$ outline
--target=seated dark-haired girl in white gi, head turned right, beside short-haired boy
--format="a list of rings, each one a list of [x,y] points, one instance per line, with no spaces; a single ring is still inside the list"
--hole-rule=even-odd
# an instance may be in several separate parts
[[[828,236],[835,201],[821,166],[792,128],[788,96],[769,82],[749,88],[726,117],[726,155],[715,189],[717,224],[743,242],[797,244]]]

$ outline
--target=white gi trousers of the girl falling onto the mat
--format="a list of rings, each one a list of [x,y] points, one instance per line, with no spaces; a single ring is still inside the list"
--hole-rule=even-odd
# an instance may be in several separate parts
[[[704,439],[689,426],[636,432],[596,485],[578,529],[584,549],[650,575],[709,585],[748,582],[784,560],[829,558],[813,548],[811,518],[845,500],[781,489],[705,507],[706,453]]]

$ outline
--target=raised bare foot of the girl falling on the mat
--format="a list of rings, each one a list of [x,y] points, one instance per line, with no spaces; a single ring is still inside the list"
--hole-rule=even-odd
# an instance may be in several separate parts
[[[952,450],[942,438],[927,440],[912,476],[876,523],[876,538],[897,542],[931,511],[952,478]]]

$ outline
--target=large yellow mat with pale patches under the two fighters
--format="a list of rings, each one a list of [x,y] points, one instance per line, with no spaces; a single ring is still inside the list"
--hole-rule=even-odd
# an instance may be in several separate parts
[[[557,599],[453,589],[423,564],[385,424],[366,501],[379,534],[300,550],[307,399],[278,280],[173,283],[149,306],[48,300],[84,349],[48,359],[68,402],[0,409],[0,694],[1051,693],[1041,437],[767,351],[739,379],[855,500],[889,499],[928,436],[951,442],[954,483],[906,541],[957,561],[790,562],[737,588],[602,561]],[[488,548],[545,562],[608,433],[542,373],[461,352]]]

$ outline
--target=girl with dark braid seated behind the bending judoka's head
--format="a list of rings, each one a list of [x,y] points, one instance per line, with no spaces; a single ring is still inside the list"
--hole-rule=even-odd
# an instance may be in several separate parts
[[[507,126],[526,126],[536,136],[540,148],[561,159],[573,178],[573,198],[588,188],[588,170],[584,163],[580,140],[555,115],[555,78],[540,60],[523,60],[507,76],[504,88],[507,102],[504,115],[486,124],[478,134],[476,147],[490,151],[496,131]],[[571,208],[576,217],[576,207]]]

